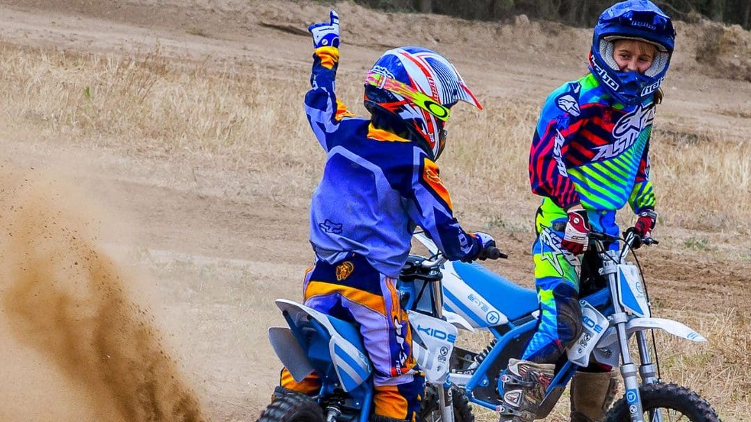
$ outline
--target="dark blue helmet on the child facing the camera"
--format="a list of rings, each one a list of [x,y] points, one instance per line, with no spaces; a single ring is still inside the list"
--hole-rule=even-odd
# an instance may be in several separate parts
[[[659,88],[668,71],[675,30],[668,15],[649,0],[628,0],[608,7],[597,19],[590,52],[590,71],[625,106],[641,103]],[[652,65],[643,74],[622,72],[613,58],[615,40],[638,40],[656,46]]]

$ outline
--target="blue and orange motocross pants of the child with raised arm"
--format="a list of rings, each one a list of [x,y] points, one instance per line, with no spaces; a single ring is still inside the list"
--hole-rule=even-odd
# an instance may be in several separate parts
[[[306,306],[360,325],[373,366],[375,415],[414,421],[424,376],[412,355],[412,328],[395,280],[350,253],[334,264],[316,262],[306,272],[303,295]],[[317,374],[295,382],[287,370],[282,370],[281,385],[306,394],[317,394],[321,388]]]

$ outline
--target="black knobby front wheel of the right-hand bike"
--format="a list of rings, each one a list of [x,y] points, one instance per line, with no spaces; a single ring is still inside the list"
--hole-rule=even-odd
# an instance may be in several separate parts
[[[720,422],[707,400],[680,385],[645,385],[639,388],[639,394],[645,422]],[[608,412],[605,422],[629,421],[629,405],[623,397]]]

